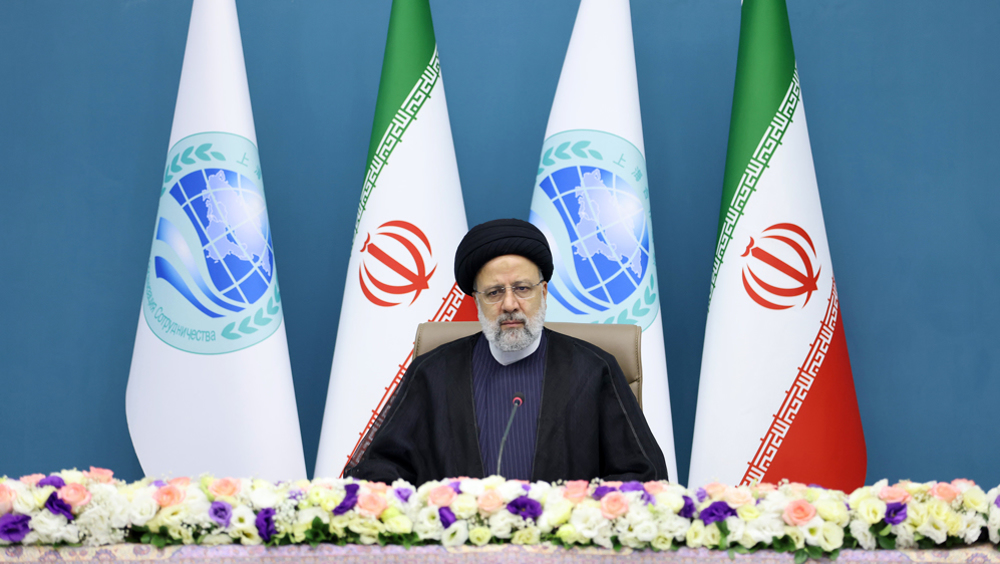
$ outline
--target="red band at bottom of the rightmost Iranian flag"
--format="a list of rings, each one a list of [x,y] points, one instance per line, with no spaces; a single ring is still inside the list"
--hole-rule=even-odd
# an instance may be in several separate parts
[[[837,283],[809,354],[741,484],[793,482],[853,491],[868,467]]]

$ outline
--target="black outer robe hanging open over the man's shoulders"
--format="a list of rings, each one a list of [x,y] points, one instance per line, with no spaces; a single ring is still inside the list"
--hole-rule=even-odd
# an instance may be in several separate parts
[[[545,332],[532,481],[666,479],[663,453],[614,356]],[[345,475],[419,485],[492,474],[483,467],[473,399],[472,352],[479,336],[413,359],[367,451]]]

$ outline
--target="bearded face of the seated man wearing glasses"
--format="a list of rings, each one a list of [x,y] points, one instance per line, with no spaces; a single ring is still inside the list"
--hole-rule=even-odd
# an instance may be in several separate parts
[[[537,338],[545,321],[548,283],[542,282],[530,298],[518,298],[510,287],[534,286],[541,281],[535,263],[520,255],[503,255],[486,263],[476,276],[476,291],[505,287],[503,299],[488,304],[476,294],[476,306],[483,333],[500,350],[521,350]]]

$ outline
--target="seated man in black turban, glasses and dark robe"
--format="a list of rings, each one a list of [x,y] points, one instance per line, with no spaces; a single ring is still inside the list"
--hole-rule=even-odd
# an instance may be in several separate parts
[[[543,327],[551,276],[552,253],[534,225],[498,219],[469,230],[455,279],[475,295],[482,333],[413,359],[346,475],[414,484],[493,474],[666,479],[614,356]]]

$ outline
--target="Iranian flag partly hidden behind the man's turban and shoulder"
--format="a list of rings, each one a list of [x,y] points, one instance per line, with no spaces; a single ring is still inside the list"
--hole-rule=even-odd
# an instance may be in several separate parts
[[[417,324],[474,321],[455,284],[468,231],[428,0],[394,0],[330,371],[316,476],[360,457],[413,355]]]

